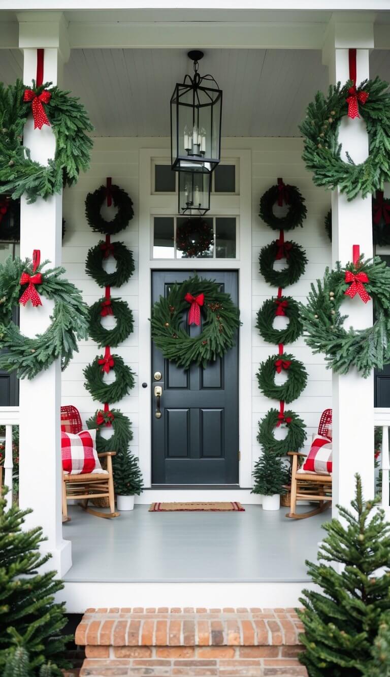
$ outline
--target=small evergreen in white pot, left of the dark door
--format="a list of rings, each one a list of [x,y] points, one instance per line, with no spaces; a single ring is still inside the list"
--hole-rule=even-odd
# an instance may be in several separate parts
[[[133,510],[134,496],[144,488],[138,459],[127,450],[118,452],[112,459],[112,468],[118,510]]]

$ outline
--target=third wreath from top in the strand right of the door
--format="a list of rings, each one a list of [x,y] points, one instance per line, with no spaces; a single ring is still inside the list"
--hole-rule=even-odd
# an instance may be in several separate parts
[[[288,326],[285,329],[274,329],[273,324],[280,303],[284,304],[283,312],[288,318]],[[266,299],[257,313],[256,326],[267,343],[294,343],[303,332],[297,301],[284,296],[278,299]]]

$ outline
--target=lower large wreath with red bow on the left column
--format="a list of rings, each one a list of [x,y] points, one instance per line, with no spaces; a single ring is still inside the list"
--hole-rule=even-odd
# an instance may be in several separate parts
[[[30,259],[8,257],[0,265],[0,348],[6,349],[0,355],[0,369],[16,370],[18,378],[34,378],[57,357],[62,358],[64,369],[73,352],[79,351],[77,341],[88,338],[88,307],[74,284],[60,279],[65,272],[62,267],[45,270],[41,284],[35,285],[38,294],[55,303],[49,328],[30,339],[12,322],[12,311],[29,288],[28,283],[20,284],[22,274],[40,274],[47,263],[43,261],[34,271]]]

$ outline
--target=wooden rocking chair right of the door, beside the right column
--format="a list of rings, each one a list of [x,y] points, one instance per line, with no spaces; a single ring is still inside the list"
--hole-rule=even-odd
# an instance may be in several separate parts
[[[332,410],[326,409],[322,412],[320,424],[318,426],[318,435],[328,437],[329,429],[332,427]],[[288,452],[288,456],[293,458],[291,471],[291,502],[290,512],[286,517],[291,519],[305,519],[313,517],[320,512],[324,512],[332,505],[332,475],[320,475],[319,473],[309,473],[299,468],[299,457],[305,458],[305,454],[299,452]],[[307,512],[296,512],[297,501],[318,501],[318,508]]]

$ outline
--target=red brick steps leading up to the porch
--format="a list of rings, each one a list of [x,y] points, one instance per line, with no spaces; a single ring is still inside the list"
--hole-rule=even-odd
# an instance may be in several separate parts
[[[295,609],[87,609],[80,677],[307,677]]]

